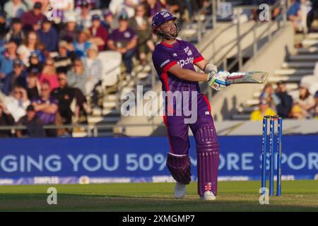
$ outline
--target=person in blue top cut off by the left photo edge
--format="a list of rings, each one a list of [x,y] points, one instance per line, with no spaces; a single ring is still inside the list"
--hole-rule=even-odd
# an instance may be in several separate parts
[[[13,71],[13,61],[18,59],[16,49],[16,43],[13,41],[0,47],[0,90],[4,88],[3,85],[6,75]]]

